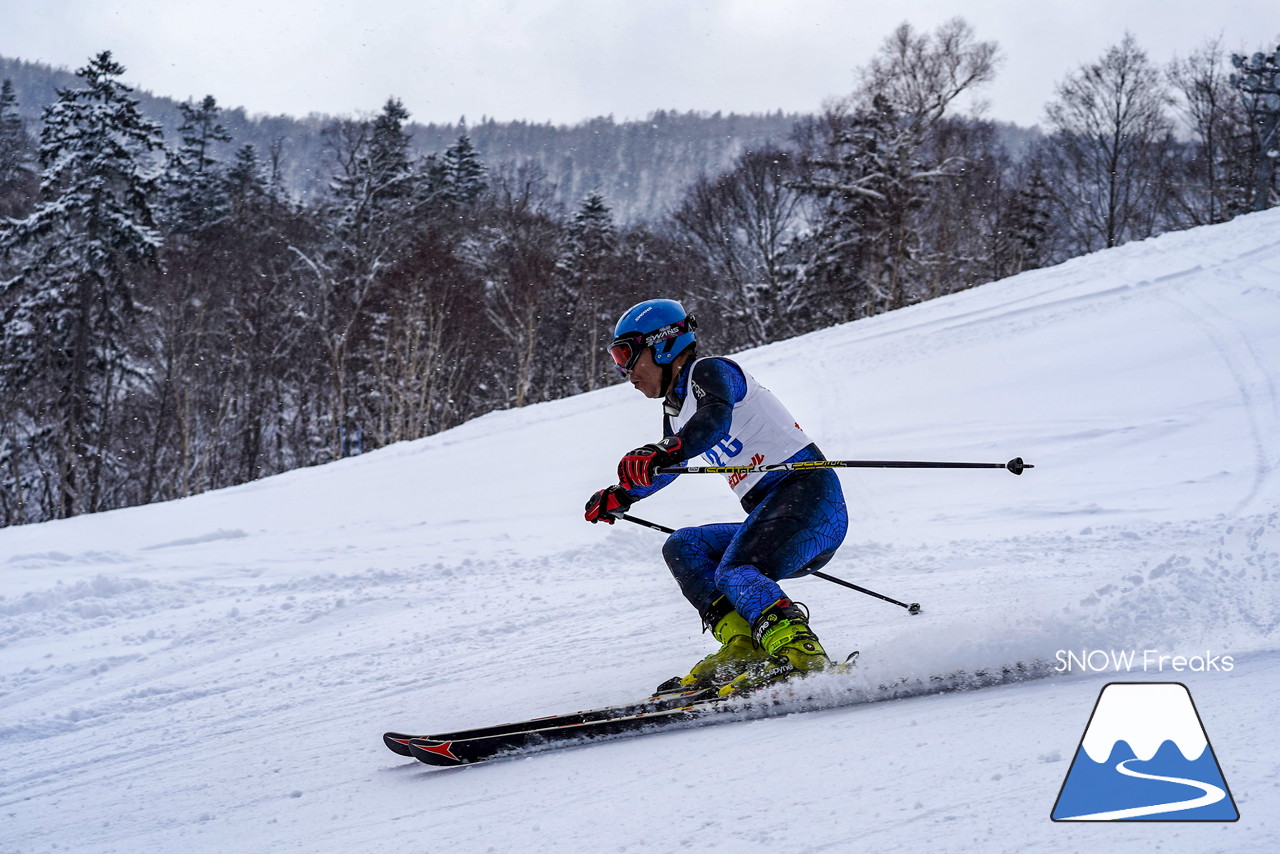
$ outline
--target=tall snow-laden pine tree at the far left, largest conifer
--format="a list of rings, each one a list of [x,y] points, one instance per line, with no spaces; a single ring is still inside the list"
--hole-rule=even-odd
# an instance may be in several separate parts
[[[59,90],[44,113],[44,200],[0,232],[19,273],[3,283],[0,384],[32,407],[28,430],[52,458],[51,515],[104,506],[114,407],[132,373],[134,274],[155,261],[160,236],[151,155],[163,145],[110,51]]]

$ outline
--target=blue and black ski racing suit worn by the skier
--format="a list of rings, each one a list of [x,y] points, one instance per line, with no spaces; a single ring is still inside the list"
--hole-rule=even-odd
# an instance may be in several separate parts
[[[686,462],[703,455],[713,465],[748,465],[746,460],[724,458],[741,447],[730,431],[733,407],[749,388],[746,374],[732,360],[690,360],[682,367],[664,401],[663,435],[677,434],[673,419],[685,408],[690,383],[698,392],[696,410],[678,430]],[[810,443],[786,462],[824,458]],[[628,489],[627,494],[639,501],[677,476],[657,475],[653,485]],[[741,495],[741,504],[745,521],[682,528],[662,549],[681,592],[704,620],[712,603],[724,595],[754,624],[783,598],[778,581],[826,566],[849,530],[845,495],[831,469],[768,472]]]

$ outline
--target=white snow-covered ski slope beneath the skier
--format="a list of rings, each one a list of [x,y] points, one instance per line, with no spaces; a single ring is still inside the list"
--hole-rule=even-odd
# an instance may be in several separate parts
[[[637,699],[713,649],[663,535],[582,519],[660,435],[618,384],[0,530],[0,851],[1280,850],[1280,210],[735,357],[831,458],[1036,466],[840,472],[826,571],[923,607],[785,583],[860,650],[844,679],[1047,676],[462,768],[388,752]],[[632,512],[742,517],[716,475]],[[1188,688],[1238,822],[1051,821],[1117,681]]]

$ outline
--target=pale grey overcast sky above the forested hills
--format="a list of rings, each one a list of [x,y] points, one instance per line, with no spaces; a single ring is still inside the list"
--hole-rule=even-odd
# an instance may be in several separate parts
[[[0,55],[252,114],[576,123],[653,110],[815,111],[904,20],[965,18],[1004,55],[987,115],[1030,125],[1126,31],[1164,64],[1221,36],[1272,50],[1280,0],[0,0]]]

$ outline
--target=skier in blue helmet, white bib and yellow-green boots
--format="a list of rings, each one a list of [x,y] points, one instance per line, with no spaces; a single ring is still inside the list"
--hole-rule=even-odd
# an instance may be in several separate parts
[[[678,475],[655,474],[703,456],[714,466],[824,460],[786,407],[732,360],[696,353],[696,321],[675,300],[628,309],[609,346],[645,397],[663,399],[663,439],[628,452],[618,483],[586,502],[586,520],[613,524]],[[832,666],[806,611],[778,581],[820,570],[836,553],[849,511],[829,469],[727,475],[742,522],[682,528],[662,554],[721,648],[659,690],[755,688]]]

